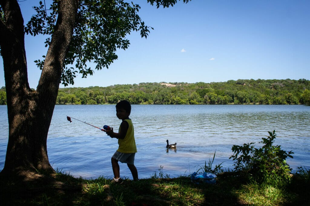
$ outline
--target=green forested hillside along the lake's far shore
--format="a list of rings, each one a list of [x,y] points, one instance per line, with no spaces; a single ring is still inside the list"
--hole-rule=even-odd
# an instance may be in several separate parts
[[[161,82],[116,84],[108,87],[60,88],[56,104],[310,104],[307,79],[238,79],[227,82]],[[5,87],[0,104],[6,104]]]

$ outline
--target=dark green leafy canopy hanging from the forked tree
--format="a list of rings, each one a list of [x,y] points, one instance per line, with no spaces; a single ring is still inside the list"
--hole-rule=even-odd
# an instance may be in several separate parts
[[[183,0],[187,3],[189,0]],[[148,0],[157,8],[173,6],[177,0]],[[36,36],[47,35],[45,46],[51,43],[50,36],[54,32],[55,19],[58,16],[58,3],[53,1],[49,9],[47,5],[39,2],[34,6],[36,15],[33,15],[25,26],[25,33]],[[114,1],[79,1],[76,21],[74,25],[69,51],[64,60],[61,82],[65,86],[74,84],[77,73],[82,78],[93,75],[93,69],[101,70],[113,63],[118,58],[117,49],[127,49],[130,45],[126,38],[132,31],[140,32],[141,37],[147,38],[149,29],[139,17],[140,6],[124,0]],[[37,66],[42,69],[44,58],[36,60]],[[93,62],[96,67],[91,68],[87,63]]]

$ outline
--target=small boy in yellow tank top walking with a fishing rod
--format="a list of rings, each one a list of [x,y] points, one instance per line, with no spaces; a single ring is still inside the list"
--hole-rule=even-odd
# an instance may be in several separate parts
[[[131,112],[131,105],[128,101],[122,100],[116,104],[116,116],[122,120],[122,123],[118,129],[118,133],[111,130],[105,131],[111,138],[118,139],[118,149],[111,158],[112,170],[114,178],[112,182],[122,184],[123,180],[120,178],[118,161],[127,163],[129,170],[131,171],[134,181],[138,180],[138,171],[134,165],[135,153],[137,147],[135,144],[134,127],[131,119],[129,118]]]

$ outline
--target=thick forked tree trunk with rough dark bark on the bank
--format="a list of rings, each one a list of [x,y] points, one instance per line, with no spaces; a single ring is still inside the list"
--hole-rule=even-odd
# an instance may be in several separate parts
[[[29,88],[24,48],[24,20],[17,1],[0,0],[0,46],[7,92],[9,139],[2,174],[53,173],[47,156],[47,133],[73,34],[77,0],[62,0],[36,91]]]

